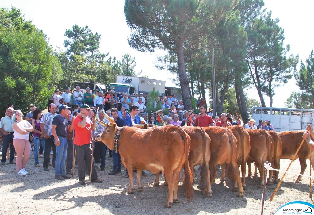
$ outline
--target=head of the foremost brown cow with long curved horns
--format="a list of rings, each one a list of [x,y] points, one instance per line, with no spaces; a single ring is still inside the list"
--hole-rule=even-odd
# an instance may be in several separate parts
[[[111,117],[106,114],[104,109],[102,109],[102,111],[103,111],[104,116],[109,121],[109,124],[100,121],[100,119],[98,117],[98,114],[96,114],[96,121],[98,121],[98,123],[100,125],[106,127],[104,132],[102,132],[101,134],[98,134],[96,136],[96,140],[99,141],[99,142],[105,143],[106,146],[110,150],[114,150],[114,147],[115,147],[114,146],[114,137],[115,137],[115,134],[116,134],[117,126],[116,126],[115,121],[113,119],[111,119]]]

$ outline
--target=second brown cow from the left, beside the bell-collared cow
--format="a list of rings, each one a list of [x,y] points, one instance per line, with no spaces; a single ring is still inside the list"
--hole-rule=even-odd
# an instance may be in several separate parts
[[[189,149],[189,166],[194,177],[194,167],[198,164],[202,164],[201,169],[201,182],[200,188],[202,189],[206,184],[209,185],[209,189],[203,189],[202,194],[206,193],[207,197],[212,196],[212,190],[210,187],[210,171],[209,171],[209,160],[210,160],[210,138],[201,127],[183,126],[182,129],[187,133],[191,139]],[[159,173],[156,174],[156,179],[153,186],[159,185]],[[165,184],[167,181],[165,180]]]

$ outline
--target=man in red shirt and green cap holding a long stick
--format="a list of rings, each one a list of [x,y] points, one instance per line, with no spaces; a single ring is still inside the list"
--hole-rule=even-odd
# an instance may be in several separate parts
[[[80,114],[73,120],[73,126],[75,131],[74,148],[77,154],[78,161],[78,179],[81,185],[85,184],[85,169],[87,167],[90,171],[91,159],[92,159],[92,121],[88,117],[89,111],[92,110],[88,105],[83,104],[80,106]],[[90,173],[89,173],[90,174]],[[95,164],[93,162],[91,182],[101,183],[102,180],[97,178],[97,172]]]

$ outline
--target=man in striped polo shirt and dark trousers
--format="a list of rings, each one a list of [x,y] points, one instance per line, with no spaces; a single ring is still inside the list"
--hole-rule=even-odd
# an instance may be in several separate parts
[[[49,164],[49,154],[52,146],[52,166],[55,166],[55,161],[56,161],[56,146],[54,144],[54,137],[52,136],[51,132],[51,126],[52,126],[52,120],[53,118],[57,116],[56,114],[56,105],[55,104],[50,104],[49,105],[49,112],[44,114],[41,118],[40,122],[40,128],[41,132],[43,132],[45,136],[45,153],[44,153],[44,170],[49,171],[48,164]]]

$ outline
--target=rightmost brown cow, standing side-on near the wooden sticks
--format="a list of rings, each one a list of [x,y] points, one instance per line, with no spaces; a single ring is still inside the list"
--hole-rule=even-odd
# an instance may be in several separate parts
[[[281,138],[282,141],[282,155],[281,158],[283,159],[292,159],[293,155],[295,154],[296,150],[299,148],[303,138],[302,135],[305,132],[303,131],[284,131],[278,132],[278,136]],[[313,139],[312,139],[313,140]],[[300,174],[304,174],[306,169],[306,159],[310,156],[310,148],[304,142],[297,153],[295,159],[299,158],[301,171]],[[302,180],[302,176],[299,175],[295,183],[299,183]]]

